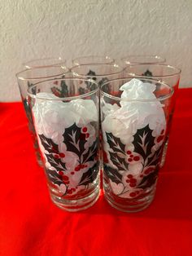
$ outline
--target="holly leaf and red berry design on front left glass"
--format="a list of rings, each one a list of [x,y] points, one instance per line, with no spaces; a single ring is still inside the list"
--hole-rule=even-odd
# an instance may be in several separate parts
[[[45,149],[46,162],[50,168],[46,167],[48,179],[55,185],[58,185],[63,192],[63,196],[76,193],[81,186],[89,188],[89,183],[93,183],[98,175],[98,138],[94,140],[89,147],[89,133],[86,126],[78,127],[76,123],[66,128],[63,133],[63,143],[66,146],[66,152],[59,152],[59,147],[52,139],[45,135],[38,135],[41,145]],[[76,155],[77,164],[74,170],[67,167],[65,157],[68,152]],[[73,179],[75,176],[81,179]]]

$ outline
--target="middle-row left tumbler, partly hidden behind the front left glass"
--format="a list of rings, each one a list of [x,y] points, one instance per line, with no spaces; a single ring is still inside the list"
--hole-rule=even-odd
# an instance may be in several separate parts
[[[36,136],[34,125],[33,125],[31,109],[28,107],[28,100],[27,100],[28,88],[32,87],[37,82],[41,82],[50,78],[65,77],[65,75],[68,72],[69,72],[68,68],[64,68],[60,66],[58,67],[50,66],[50,67],[41,67],[41,68],[28,68],[16,74],[17,82],[20,89],[21,99],[24,104],[24,110],[28,117],[28,129],[30,131],[30,134],[32,135],[33,145],[34,145],[37,162],[39,166],[42,166],[42,162],[41,162],[41,156],[40,156],[38,143],[37,143],[37,136]],[[52,90],[55,90],[55,85],[53,85]],[[57,93],[62,95],[64,90],[65,90],[65,86],[63,85],[62,89],[58,90]]]

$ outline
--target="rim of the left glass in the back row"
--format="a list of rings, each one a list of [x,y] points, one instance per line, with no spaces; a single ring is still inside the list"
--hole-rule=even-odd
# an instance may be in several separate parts
[[[55,63],[54,64],[44,64],[44,65],[38,65],[38,64],[35,64],[35,65],[31,65],[30,64],[33,64],[35,63],[36,61],[40,61],[40,60],[55,60]],[[40,58],[40,59],[33,59],[33,60],[28,60],[26,62],[23,63],[24,67],[25,68],[40,68],[40,67],[50,67],[50,66],[55,66],[55,65],[59,65],[59,64],[66,64],[66,60],[63,60],[62,57],[48,57],[48,58]]]

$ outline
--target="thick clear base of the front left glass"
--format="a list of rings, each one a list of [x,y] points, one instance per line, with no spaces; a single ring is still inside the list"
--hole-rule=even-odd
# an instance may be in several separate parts
[[[89,196],[85,196],[83,198],[76,200],[66,200],[60,196],[55,196],[52,193],[50,193],[50,198],[54,202],[54,204],[57,205],[62,210],[76,212],[80,210],[85,210],[94,205],[94,203],[98,200],[99,193],[99,188],[96,188],[94,192],[91,193]]]

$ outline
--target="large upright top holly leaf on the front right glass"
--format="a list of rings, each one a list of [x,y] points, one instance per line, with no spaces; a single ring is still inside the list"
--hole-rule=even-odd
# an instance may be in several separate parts
[[[134,152],[140,154],[143,160],[151,155],[151,149],[155,145],[155,137],[152,135],[152,131],[149,125],[142,129],[138,129],[137,133],[133,135]]]

